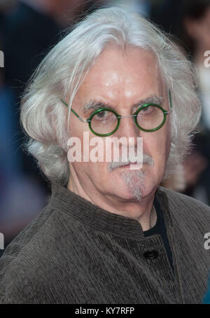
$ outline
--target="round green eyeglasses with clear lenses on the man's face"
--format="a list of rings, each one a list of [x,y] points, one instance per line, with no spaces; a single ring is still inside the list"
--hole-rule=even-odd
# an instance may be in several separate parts
[[[66,104],[63,100],[62,103],[68,107],[68,104]],[[170,107],[172,107],[170,91],[169,103]],[[113,109],[100,107],[94,111],[89,118],[84,120],[78,116],[76,111],[73,109],[71,109],[71,111],[79,120],[83,121],[83,123],[88,123],[93,134],[96,134],[99,137],[107,137],[116,132],[120,125],[120,119],[125,117],[133,117],[134,123],[140,130],[144,130],[144,132],[155,132],[165,124],[167,114],[169,113],[169,111],[163,109],[162,106],[154,103],[146,103],[140,106],[137,111],[129,116],[120,116]]]

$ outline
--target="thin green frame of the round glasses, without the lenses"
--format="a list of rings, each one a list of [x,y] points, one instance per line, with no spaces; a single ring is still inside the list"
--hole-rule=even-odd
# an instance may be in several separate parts
[[[66,106],[68,107],[68,104],[66,104],[66,102],[64,102],[62,99],[60,99],[61,102]],[[142,109],[144,109],[145,107],[147,106],[157,106],[159,109],[162,110],[162,113],[164,115],[164,118],[162,120],[162,123],[156,127],[156,128],[153,128],[153,129],[150,129],[150,130],[146,130],[142,127],[139,126],[138,122],[137,122],[137,116],[138,116],[138,113],[139,111],[141,111]],[[169,106],[170,106],[170,109],[172,109],[172,96],[171,96],[171,91],[169,90]],[[94,111],[94,113],[92,113],[90,115],[90,117],[88,117],[87,119],[83,119],[81,118],[78,113],[76,113],[76,111],[74,111],[72,108],[71,108],[71,111],[72,113],[74,113],[74,115],[76,115],[76,117],[82,121],[83,123],[88,123],[89,125],[89,128],[90,128],[90,131],[93,133],[93,134],[96,134],[97,136],[99,137],[108,137],[110,136],[111,134],[113,134],[114,132],[116,132],[116,130],[118,130],[118,127],[120,125],[120,119],[121,118],[124,118],[124,117],[134,117],[134,123],[137,125],[137,127],[140,129],[140,130],[143,130],[144,132],[155,132],[156,130],[159,130],[164,124],[165,124],[165,121],[167,119],[167,114],[169,113],[169,111],[166,111],[165,109],[162,108],[162,106],[158,105],[158,104],[154,104],[154,103],[147,103],[147,104],[144,104],[142,106],[139,107],[139,109],[137,109],[137,111],[135,111],[132,115],[129,115],[129,116],[120,116],[116,111],[113,111],[113,109],[109,109],[109,108],[101,108],[101,109],[97,109],[96,111]],[[92,130],[92,127],[91,127],[91,120],[93,118],[93,116],[95,116],[96,113],[99,113],[100,111],[111,111],[112,113],[114,113],[116,115],[116,118],[118,118],[118,123],[116,125],[116,128],[112,131],[112,132],[109,132],[108,134],[98,134],[97,132],[94,132],[94,130]]]

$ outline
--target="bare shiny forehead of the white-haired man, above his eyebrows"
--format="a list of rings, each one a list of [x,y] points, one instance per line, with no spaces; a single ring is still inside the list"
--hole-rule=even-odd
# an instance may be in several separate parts
[[[155,54],[142,48],[109,46],[94,61],[74,102],[99,99],[109,104],[135,104],[148,96],[165,95]]]

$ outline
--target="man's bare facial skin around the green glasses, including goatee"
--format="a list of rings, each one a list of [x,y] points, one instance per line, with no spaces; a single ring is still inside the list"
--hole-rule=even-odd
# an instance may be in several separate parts
[[[90,102],[100,102],[114,109],[121,116],[129,116],[144,99],[151,96],[162,97],[162,107],[169,110],[168,97],[162,85],[153,53],[139,48],[121,50],[115,46],[106,48],[98,57],[85,81],[73,99],[72,109],[87,119],[95,109],[83,109]],[[70,134],[79,137],[83,146],[83,132],[89,132],[89,138],[96,137],[88,127],[71,112]],[[165,125],[155,132],[144,132],[134,123],[132,117],[121,118],[118,130],[110,137],[143,138],[143,153],[153,159],[143,164],[141,170],[130,170],[130,166],[109,170],[109,162],[69,163],[71,182],[91,197],[96,193],[106,198],[120,200],[140,200],[154,193],[165,172],[169,155],[169,118]],[[106,137],[98,137],[105,141]],[[105,144],[105,142],[104,142]],[[93,147],[90,147],[90,150]],[[105,148],[104,148],[105,151]],[[122,153],[122,147],[120,148]],[[105,157],[105,155],[104,155]]]

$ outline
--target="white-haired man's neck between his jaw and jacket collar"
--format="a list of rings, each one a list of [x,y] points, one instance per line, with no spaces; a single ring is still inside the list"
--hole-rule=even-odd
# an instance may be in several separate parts
[[[134,199],[125,200],[117,197],[116,195],[102,193],[90,182],[89,179],[85,180],[84,184],[86,184],[86,186],[81,186],[78,178],[76,177],[76,172],[71,170],[71,179],[69,178],[67,186],[70,191],[80,195],[80,197],[92,202],[92,204],[97,205],[108,212],[137,219],[137,221],[141,224],[143,231],[149,230],[155,226],[157,221],[157,215],[153,208],[155,191],[146,198],[142,198],[141,202],[139,202]]]

